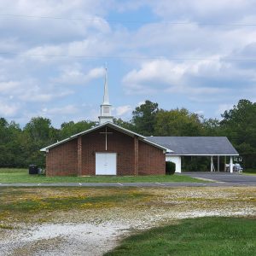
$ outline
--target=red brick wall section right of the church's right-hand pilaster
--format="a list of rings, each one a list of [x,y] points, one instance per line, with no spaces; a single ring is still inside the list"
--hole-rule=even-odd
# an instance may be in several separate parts
[[[139,141],[138,158],[139,175],[166,174],[166,154],[163,153],[162,149]]]

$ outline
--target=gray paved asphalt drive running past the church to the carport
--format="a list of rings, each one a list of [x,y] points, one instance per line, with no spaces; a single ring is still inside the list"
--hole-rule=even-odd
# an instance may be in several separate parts
[[[183,172],[212,183],[0,183],[0,187],[226,187],[256,186],[256,176],[225,172]]]

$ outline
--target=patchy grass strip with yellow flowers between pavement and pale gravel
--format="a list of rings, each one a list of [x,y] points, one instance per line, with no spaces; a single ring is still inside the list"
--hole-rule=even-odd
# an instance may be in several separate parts
[[[19,216],[18,218],[21,217],[25,221],[26,218],[40,212],[45,214],[74,209],[123,207],[123,204],[131,205],[147,201],[152,196],[132,188],[2,188],[0,190],[0,224],[3,218],[8,216],[15,219]]]

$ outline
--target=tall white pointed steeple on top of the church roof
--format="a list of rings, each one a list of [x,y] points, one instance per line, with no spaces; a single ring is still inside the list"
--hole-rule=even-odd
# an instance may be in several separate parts
[[[108,100],[108,69],[105,67],[105,83],[104,83],[104,96],[103,103],[101,105],[101,115],[99,116],[100,125],[106,122],[113,122],[113,116],[111,115],[112,105]]]

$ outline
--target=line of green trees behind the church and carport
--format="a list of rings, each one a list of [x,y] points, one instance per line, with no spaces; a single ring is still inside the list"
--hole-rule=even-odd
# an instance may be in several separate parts
[[[256,168],[256,103],[240,100],[222,119],[205,119],[186,108],[165,110],[158,103],[146,101],[132,112],[130,121],[113,119],[120,125],[144,136],[224,136],[230,139],[243,157],[243,165]],[[64,122],[60,129],[43,117],[32,118],[23,128],[14,121],[0,118],[0,167],[44,167],[45,155],[40,152],[49,144],[97,125],[83,120]]]

